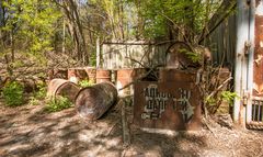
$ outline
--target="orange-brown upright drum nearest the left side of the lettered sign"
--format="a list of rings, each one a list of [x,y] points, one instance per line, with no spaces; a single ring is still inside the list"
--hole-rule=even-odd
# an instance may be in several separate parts
[[[117,70],[116,86],[117,86],[119,96],[125,97],[125,96],[134,94],[134,86],[133,85],[130,85],[129,87],[126,87],[126,86],[141,78],[145,74],[146,74],[146,69],[144,68]]]

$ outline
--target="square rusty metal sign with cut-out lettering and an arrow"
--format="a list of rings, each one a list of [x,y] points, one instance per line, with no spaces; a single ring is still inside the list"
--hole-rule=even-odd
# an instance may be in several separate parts
[[[201,128],[201,97],[193,82],[137,82],[134,123],[173,131]]]

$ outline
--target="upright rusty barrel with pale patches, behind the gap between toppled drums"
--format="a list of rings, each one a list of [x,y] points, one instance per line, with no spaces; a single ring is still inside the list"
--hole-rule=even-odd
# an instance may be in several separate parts
[[[71,82],[78,83],[81,80],[88,80],[89,77],[83,68],[69,68],[68,79]]]

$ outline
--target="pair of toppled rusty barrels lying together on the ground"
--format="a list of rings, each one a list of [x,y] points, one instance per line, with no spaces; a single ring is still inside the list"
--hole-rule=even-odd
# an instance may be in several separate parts
[[[47,97],[55,100],[59,97],[67,98],[75,104],[80,116],[98,120],[117,101],[117,89],[111,82],[101,82],[81,89],[69,80],[53,79],[48,83]]]

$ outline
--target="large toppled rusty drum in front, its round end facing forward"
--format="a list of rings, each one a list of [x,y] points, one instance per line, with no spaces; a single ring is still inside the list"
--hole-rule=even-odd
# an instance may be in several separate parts
[[[117,100],[117,90],[111,82],[101,82],[83,88],[76,97],[75,106],[80,116],[98,120]]]

